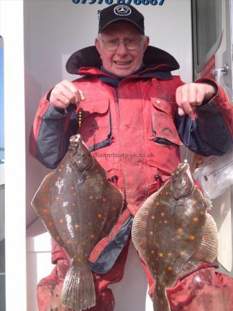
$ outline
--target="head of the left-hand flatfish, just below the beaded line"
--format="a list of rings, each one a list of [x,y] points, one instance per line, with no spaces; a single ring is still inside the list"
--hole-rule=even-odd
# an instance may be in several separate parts
[[[71,156],[71,167],[78,171],[90,169],[93,166],[93,157],[84,144],[80,134],[71,136],[68,153]]]

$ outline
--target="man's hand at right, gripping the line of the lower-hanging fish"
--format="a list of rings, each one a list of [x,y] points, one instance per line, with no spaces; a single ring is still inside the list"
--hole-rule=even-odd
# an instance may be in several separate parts
[[[203,101],[211,100],[215,94],[215,88],[209,84],[188,83],[176,89],[176,102],[179,115],[192,115],[196,106]]]

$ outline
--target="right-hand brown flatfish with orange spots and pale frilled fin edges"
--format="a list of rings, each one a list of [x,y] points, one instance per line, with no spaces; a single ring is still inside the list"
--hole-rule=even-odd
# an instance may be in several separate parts
[[[156,283],[154,311],[171,311],[166,289],[201,263],[212,263],[218,253],[216,223],[207,212],[211,202],[189,176],[189,164],[178,164],[133,220],[133,244]]]

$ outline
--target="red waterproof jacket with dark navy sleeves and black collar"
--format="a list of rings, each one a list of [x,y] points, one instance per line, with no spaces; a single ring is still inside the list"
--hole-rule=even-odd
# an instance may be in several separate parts
[[[91,253],[93,270],[106,272],[114,260],[102,264],[107,252],[116,258],[130,233],[131,216],[170,178],[180,162],[180,145],[202,156],[220,156],[232,149],[233,109],[224,91],[214,84],[216,95],[198,106],[195,117],[179,116],[176,88],[183,82],[172,76],[178,63],[168,53],[149,46],[144,66],[137,73],[118,79],[101,69],[95,47],[74,53],[66,64],[69,73],[82,75],[73,83],[85,96],[80,106],[68,111],[54,109],[50,92],[41,99],[30,137],[30,153],[49,168],[57,167],[67,151],[69,138],[79,131],[93,156],[106,169],[109,179],[125,196],[125,208],[111,236]],[[82,123],[78,127],[77,115]],[[118,243],[116,243],[118,241]],[[53,261],[61,256],[61,249]],[[57,255],[56,255],[57,254]],[[98,262],[98,258],[102,258]],[[104,266],[104,268],[102,268]]]

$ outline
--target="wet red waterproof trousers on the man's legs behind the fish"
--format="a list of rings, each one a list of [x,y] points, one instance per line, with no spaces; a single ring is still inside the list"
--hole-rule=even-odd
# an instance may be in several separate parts
[[[113,293],[107,286],[122,279],[128,249],[129,242],[109,272],[106,274],[93,273],[96,305],[88,311],[114,310]],[[143,262],[142,265],[149,279],[149,294],[152,296],[153,279]],[[37,286],[39,311],[68,311],[60,303],[62,285],[68,267],[68,260],[58,260],[50,276],[39,282]],[[215,272],[214,267],[203,267],[178,281],[174,288],[167,290],[167,296],[171,311],[233,311],[233,279],[225,274]]]

